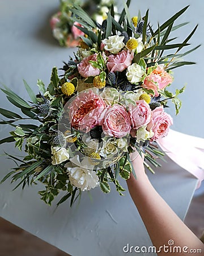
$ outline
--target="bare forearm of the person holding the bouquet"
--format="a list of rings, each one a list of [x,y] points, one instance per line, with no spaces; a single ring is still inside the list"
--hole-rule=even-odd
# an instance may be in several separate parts
[[[189,250],[202,249],[204,251],[203,243],[155,191],[145,173],[139,174],[137,180],[127,180],[127,184],[154,246],[159,248],[168,245],[169,240],[173,240],[174,246],[181,248],[188,246]],[[172,255],[172,253],[164,253],[163,250],[158,254]],[[174,255],[185,255],[185,253]]]

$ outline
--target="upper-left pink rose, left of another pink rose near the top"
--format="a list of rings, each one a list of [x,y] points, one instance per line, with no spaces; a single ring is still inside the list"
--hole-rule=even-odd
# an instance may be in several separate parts
[[[100,74],[100,69],[95,68],[89,63],[88,61],[94,60],[96,61],[97,53],[94,53],[93,55],[90,55],[86,58],[84,58],[79,64],[78,64],[78,71],[79,74],[83,77],[89,77],[89,76],[97,76]]]

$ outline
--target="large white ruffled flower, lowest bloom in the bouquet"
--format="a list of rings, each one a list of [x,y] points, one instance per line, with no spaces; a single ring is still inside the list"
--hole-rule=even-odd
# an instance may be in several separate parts
[[[76,188],[80,188],[81,191],[88,191],[99,185],[99,177],[96,175],[95,171],[86,168],[86,159],[82,160],[80,163],[79,156],[76,155],[74,158],[70,159],[70,161],[72,162],[72,166],[66,164],[65,167],[67,167],[70,183],[72,185]]]

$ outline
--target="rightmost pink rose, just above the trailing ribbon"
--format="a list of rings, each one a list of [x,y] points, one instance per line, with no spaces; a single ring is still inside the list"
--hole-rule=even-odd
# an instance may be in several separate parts
[[[165,137],[171,125],[173,125],[173,119],[171,115],[164,112],[163,106],[152,110],[152,119],[148,127],[154,132],[152,141]]]

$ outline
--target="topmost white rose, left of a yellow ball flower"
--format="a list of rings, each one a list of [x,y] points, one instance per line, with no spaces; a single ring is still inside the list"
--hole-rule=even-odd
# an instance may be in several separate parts
[[[122,42],[124,40],[124,36],[109,36],[108,39],[102,40],[105,44],[104,49],[113,54],[120,52],[122,48],[124,48],[125,44]]]

